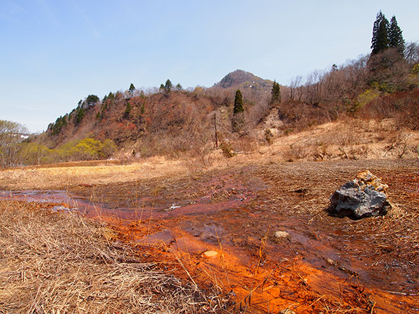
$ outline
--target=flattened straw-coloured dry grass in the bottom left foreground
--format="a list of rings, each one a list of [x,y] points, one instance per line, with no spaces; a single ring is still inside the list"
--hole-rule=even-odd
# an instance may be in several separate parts
[[[0,313],[211,312],[196,285],[144,262],[101,223],[0,201],[0,231]]]

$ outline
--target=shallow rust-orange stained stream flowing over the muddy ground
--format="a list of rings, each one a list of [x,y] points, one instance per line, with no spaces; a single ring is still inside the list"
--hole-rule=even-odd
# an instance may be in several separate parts
[[[374,313],[419,313],[419,265],[406,260],[399,246],[409,235],[385,230],[388,218],[365,222],[328,216],[323,187],[288,186],[279,193],[267,177],[235,172],[163,188],[78,186],[71,193],[0,191],[0,197],[118,221],[131,241],[182,257],[196,281],[216,283],[236,306],[251,306],[253,313],[278,313],[313,295],[343,303],[352,299],[352,306],[367,295]],[[309,207],[320,210],[313,214]],[[284,237],[275,236],[278,231]],[[381,232],[393,238],[383,244]],[[219,254],[207,258],[206,251]]]

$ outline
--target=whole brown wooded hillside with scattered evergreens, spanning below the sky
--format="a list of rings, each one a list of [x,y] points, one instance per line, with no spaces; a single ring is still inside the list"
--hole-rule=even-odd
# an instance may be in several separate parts
[[[392,119],[396,128],[418,130],[418,43],[404,43],[395,16],[389,22],[380,11],[371,49],[358,59],[293,77],[288,86],[235,70],[210,88],[184,90],[167,80],[152,91],[131,84],[103,98],[89,95],[41,135],[24,140],[10,135],[17,131],[2,131],[8,139],[3,140],[2,165],[200,156],[216,147],[230,156],[348,119]]]

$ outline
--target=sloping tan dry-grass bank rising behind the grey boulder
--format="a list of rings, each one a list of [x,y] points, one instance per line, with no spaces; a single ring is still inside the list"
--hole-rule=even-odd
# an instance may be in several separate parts
[[[396,124],[394,119],[348,119],[279,137],[260,151],[286,161],[418,158],[419,133]]]

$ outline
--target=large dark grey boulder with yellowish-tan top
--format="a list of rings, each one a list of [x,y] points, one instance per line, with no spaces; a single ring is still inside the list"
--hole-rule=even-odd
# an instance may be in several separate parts
[[[382,184],[371,172],[360,172],[330,197],[331,212],[354,219],[385,215],[391,208],[385,194],[387,188],[388,185]]]

